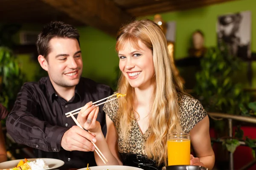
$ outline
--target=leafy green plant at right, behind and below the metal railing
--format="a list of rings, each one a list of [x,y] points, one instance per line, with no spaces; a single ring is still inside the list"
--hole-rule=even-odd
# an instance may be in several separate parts
[[[256,115],[256,103],[250,102],[252,97],[244,92],[241,83],[234,82],[234,77],[240,71],[241,60],[228,53],[225,45],[208,48],[201,59],[201,71],[196,73],[195,96],[201,101],[208,112],[228,113],[243,116]],[[233,121],[234,122],[234,121]],[[210,119],[210,125],[215,130],[215,137],[222,139],[223,146],[234,153],[239,146],[239,140],[244,140],[253,150],[254,140],[244,136],[239,123],[234,122],[236,133],[232,139],[227,137],[227,123],[224,120]]]

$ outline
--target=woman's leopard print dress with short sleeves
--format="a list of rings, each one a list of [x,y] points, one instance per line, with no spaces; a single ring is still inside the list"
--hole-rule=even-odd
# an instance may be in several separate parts
[[[183,133],[189,133],[189,131],[205,116],[207,112],[204,110],[201,103],[190,96],[178,95],[179,97],[179,108],[180,108],[180,120],[181,127],[183,128]],[[112,100],[107,102],[103,110],[107,113],[108,117],[113,121],[116,131],[118,133],[118,150],[119,153],[132,153],[132,154],[143,154],[146,155],[144,144],[148,136],[150,135],[150,130],[146,130],[145,133],[141,133],[140,127],[136,120],[131,120],[131,130],[129,132],[129,141],[124,142],[123,135],[119,126],[119,115],[118,112],[118,102],[117,100]]]

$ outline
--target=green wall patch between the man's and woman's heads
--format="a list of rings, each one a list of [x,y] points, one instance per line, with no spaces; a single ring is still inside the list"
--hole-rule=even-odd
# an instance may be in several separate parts
[[[84,63],[82,75],[113,87],[119,74],[115,38],[92,27],[78,29]]]

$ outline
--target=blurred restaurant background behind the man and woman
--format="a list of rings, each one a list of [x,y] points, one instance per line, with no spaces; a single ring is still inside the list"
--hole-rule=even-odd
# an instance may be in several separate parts
[[[8,111],[27,81],[47,76],[35,41],[52,20],[78,28],[83,77],[116,89],[116,33],[134,19],[166,34],[175,74],[210,116],[215,169],[256,169],[255,0],[0,0],[0,103]],[[6,133],[9,160],[33,157]]]

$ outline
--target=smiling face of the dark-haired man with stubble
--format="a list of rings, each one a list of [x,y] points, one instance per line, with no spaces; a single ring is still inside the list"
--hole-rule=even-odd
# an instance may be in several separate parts
[[[73,87],[79,83],[83,62],[79,43],[76,39],[52,38],[47,66],[52,84]]]

